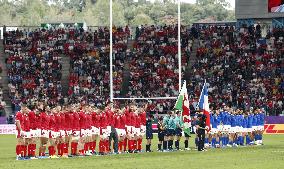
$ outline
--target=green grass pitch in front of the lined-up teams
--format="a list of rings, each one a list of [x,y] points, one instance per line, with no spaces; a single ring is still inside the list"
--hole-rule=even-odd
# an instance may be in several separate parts
[[[264,146],[211,149],[207,152],[195,150],[171,153],[121,154],[68,159],[15,160],[14,135],[0,135],[0,169],[283,169],[284,135],[265,135]],[[156,150],[153,140],[152,150]],[[193,139],[191,139],[193,146]],[[183,144],[182,144],[183,145]]]

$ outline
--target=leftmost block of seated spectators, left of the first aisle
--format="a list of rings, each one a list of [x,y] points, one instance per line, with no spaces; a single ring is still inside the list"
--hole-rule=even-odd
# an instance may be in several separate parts
[[[33,105],[42,101],[54,106],[62,100],[59,54],[63,35],[60,30],[45,29],[6,34],[4,50],[13,111],[23,102]]]

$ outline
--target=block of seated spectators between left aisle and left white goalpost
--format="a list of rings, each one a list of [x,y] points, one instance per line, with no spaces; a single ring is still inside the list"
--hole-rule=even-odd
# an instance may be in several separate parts
[[[71,59],[69,103],[105,105],[109,99],[109,36],[107,27],[91,31],[74,30],[66,43]]]

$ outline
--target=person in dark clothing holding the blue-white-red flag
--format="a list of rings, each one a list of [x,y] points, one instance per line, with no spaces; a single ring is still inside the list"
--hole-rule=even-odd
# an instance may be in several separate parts
[[[204,150],[205,130],[206,130],[206,116],[202,113],[197,116],[196,132],[198,137],[198,151]]]

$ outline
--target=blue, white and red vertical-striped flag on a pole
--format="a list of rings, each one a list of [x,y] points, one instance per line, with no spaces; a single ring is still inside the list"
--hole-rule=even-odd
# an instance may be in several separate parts
[[[199,98],[199,103],[198,103],[199,109],[203,111],[203,114],[206,115],[206,126],[210,128],[210,109],[209,109],[209,102],[208,102],[208,89],[206,85],[206,81],[203,85],[200,98]]]

